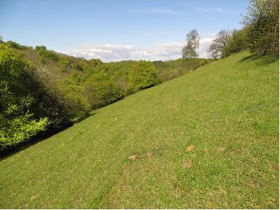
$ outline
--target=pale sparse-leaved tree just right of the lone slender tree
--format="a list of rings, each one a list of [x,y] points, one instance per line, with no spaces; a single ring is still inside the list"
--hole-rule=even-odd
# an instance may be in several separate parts
[[[219,31],[217,34],[217,38],[212,41],[209,49],[207,50],[209,57],[212,57],[214,59],[224,57],[222,51],[223,48],[225,48],[225,45],[228,45],[231,36],[232,34],[230,30],[221,29],[221,31]]]

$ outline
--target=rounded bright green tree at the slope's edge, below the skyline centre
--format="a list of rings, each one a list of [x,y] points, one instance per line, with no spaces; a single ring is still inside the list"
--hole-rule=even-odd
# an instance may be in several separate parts
[[[143,90],[158,83],[155,67],[151,62],[140,61],[130,70],[130,88],[133,91]]]

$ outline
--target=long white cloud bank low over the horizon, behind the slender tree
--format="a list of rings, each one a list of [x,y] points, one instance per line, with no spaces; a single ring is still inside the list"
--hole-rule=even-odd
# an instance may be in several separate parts
[[[200,57],[207,57],[207,48],[216,34],[202,34],[200,38]],[[76,57],[85,57],[86,59],[99,58],[103,62],[112,62],[120,60],[168,60],[181,57],[181,50],[185,43],[168,42],[153,43],[144,47],[134,45],[102,45],[102,44],[85,44],[79,45],[71,50],[58,50],[59,52]]]

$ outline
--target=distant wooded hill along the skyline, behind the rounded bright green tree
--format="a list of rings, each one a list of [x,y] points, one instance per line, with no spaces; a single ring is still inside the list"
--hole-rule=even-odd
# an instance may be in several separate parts
[[[47,50],[45,46],[36,46],[36,49],[34,49],[13,41],[7,41],[7,43],[18,50],[22,57],[34,62],[37,67],[46,66],[57,78],[69,78],[71,71],[78,71],[81,76],[84,76],[84,74],[94,72],[97,66],[107,69],[130,69],[137,63],[137,61],[132,60],[103,63],[100,59],[87,60],[82,57],[73,57],[53,50]],[[62,59],[64,59],[64,62],[65,60],[69,62],[69,64],[63,66],[62,62],[59,62]],[[194,64],[190,64],[188,61],[183,62],[182,59],[174,59],[169,61],[156,61],[153,62],[153,65],[157,70],[160,80],[166,81],[193,71],[204,64],[209,64],[213,59],[197,58],[195,61]]]

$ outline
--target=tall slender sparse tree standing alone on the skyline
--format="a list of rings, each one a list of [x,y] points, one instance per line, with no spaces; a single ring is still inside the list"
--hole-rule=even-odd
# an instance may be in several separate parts
[[[183,47],[182,57],[195,58],[198,57],[197,49],[200,47],[200,36],[196,29],[190,31],[186,36],[187,44]]]

